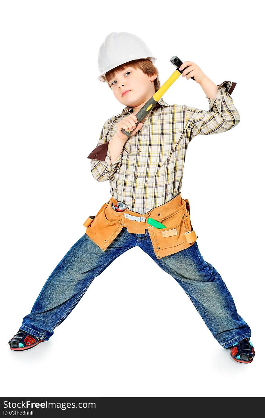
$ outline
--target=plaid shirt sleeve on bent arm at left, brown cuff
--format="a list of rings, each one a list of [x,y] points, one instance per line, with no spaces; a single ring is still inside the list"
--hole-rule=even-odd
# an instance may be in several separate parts
[[[100,139],[96,148],[88,155],[87,158],[91,158],[91,172],[95,180],[106,181],[111,178],[116,169],[121,166],[121,157],[123,151],[111,163],[111,155],[108,149],[108,143],[115,135],[115,132],[111,130],[110,119],[106,120],[100,133]]]

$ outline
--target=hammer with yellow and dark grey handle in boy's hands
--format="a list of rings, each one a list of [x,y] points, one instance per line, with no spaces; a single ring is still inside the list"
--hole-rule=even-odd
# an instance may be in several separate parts
[[[176,81],[176,79],[187,68],[187,67],[185,67],[183,70],[180,70],[179,69],[179,67],[181,66],[181,64],[183,64],[183,62],[180,61],[180,59],[177,56],[175,56],[175,55],[172,56],[172,58],[170,59],[170,62],[172,62],[172,64],[174,64],[175,67],[177,67],[177,70],[175,70],[173,72],[173,74],[160,87],[160,89],[157,90],[157,92],[154,93],[154,96],[151,97],[151,99],[149,99],[148,102],[146,102],[143,107],[141,107],[141,109],[139,110],[138,113],[136,113],[136,115],[135,115],[137,117],[136,126],[138,125],[138,123],[142,122],[142,120],[147,116],[147,114],[149,113],[149,111],[151,109],[153,109],[154,105],[158,102],[158,100],[161,99],[161,97],[167,91],[167,89],[174,83],[174,81]],[[190,78],[193,79],[194,81],[196,81],[194,77],[190,77]],[[131,134],[131,131],[126,131],[125,129],[122,129],[121,132],[124,133],[128,137]]]

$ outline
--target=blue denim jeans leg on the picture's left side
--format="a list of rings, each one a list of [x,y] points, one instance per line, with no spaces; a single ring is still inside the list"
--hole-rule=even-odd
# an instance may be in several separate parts
[[[84,234],[46,280],[31,313],[24,316],[20,328],[44,341],[49,340],[54,328],[75,308],[93,279],[115,258],[135,245],[135,235],[129,234],[126,228],[105,252]]]

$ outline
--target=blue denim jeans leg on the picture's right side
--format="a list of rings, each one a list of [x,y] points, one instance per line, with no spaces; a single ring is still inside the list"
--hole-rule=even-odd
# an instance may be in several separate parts
[[[150,238],[140,247],[180,284],[222,347],[228,348],[243,338],[250,338],[250,327],[237,313],[221,275],[203,259],[197,241],[191,247],[159,260]]]

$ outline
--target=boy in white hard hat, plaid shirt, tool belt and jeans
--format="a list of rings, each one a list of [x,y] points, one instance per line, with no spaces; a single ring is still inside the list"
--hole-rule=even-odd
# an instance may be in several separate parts
[[[236,83],[217,86],[195,63],[185,61],[180,70],[187,67],[183,76],[193,76],[201,85],[209,111],[169,105],[161,98],[136,126],[137,112],[160,88],[154,61],[147,45],[131,33],[113,32],[100,46],[98,79],[107,82],[126,106],[105,122],[97,147],[87,157],[93,177],[110,182],[111,199],[85,221],[86,233],[51,273],[31,313],[9,341],[12,350],[47,341],[92,280],[137,245],[181,285],[232,358],[252,362],[255,351],[250,327],[237,313],[220,274],[203,259],[190,222],[188,199],[180,195],[188,143],[198,134],[221,133],[239,123],[230,96]],[[123,129],[130,131],[129,138]],[[149,223],[152,219],[164,228],[154,227]]]

